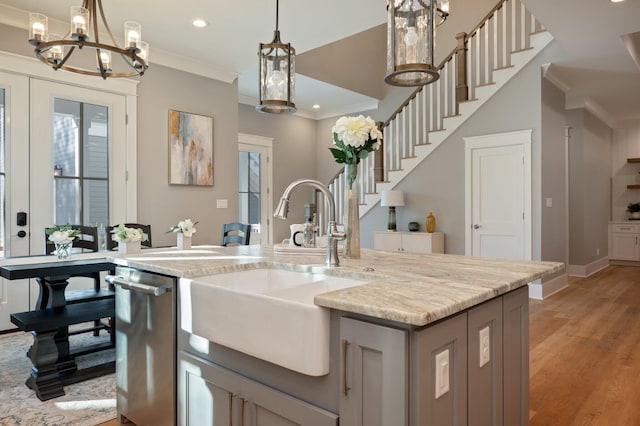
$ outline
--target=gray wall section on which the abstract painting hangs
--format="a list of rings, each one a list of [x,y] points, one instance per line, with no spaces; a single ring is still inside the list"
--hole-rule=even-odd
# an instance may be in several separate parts
[[[225,222],[238,218],[236,84],[151,64],[138,86],[138,221],[150,223],[153,245],[175,245],[165,234],[179,220],[199,221],[194,244],[218,244]],[[213,117],[213,186],[169,185],[169,109]],[[227,209],[216,208],[228,200]]]

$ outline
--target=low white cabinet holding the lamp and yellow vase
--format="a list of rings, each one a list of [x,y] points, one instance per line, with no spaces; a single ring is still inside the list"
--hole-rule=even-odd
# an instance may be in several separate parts
[[[444,253],[444,234],[379,231],[373,236],[373,248],[408,253]]]

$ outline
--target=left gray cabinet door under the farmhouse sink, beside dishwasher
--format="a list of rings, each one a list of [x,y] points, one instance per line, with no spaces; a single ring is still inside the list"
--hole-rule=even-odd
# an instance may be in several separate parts
[[[240,382],[226,370],[185,352],[178,353],[178,424],[230,426],[240,400]],[[243,401],[242,401],[243,402]]]

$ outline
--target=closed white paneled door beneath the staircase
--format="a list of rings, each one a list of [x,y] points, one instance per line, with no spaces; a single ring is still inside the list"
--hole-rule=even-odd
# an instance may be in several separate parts
[[[531,258],[531,132],[465,138],[467,254]]]

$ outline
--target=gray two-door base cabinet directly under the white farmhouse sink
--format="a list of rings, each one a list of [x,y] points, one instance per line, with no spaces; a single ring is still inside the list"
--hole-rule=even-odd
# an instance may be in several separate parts
[[[178,423],[212,426],[337,426],[338,416],[180,351]]]

